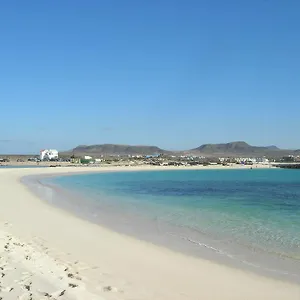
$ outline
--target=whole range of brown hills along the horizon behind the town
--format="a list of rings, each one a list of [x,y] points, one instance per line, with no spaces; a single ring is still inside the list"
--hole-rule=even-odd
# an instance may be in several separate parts
[[[169,154],[169,155],[202,155],[202,156],[272,156],[279,157],[285,155],[300,155],[299,150],[285,150],[272,146],[252,146],[243,141],[230,142],[224,144],[204,144],[197,148],[185,151],[169,151],[157,146],[131,146],[118,144],[101,144],[101,145],[80,145],[76,148],[66,151],[65,154],[74,154],[76,156],[91,155],[152,155],[152,154]]]

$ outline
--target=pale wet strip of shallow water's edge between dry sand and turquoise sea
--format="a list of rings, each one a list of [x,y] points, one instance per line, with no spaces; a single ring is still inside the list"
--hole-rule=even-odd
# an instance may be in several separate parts
[[[177,169],[178,170],[178,169]],[[101,170],[99,173],[108,172],[137,172],[136,170]],[[138,172],[159,172],[157,169],[143,169]],[[165,170],[168,171],[168,170]],[[98,173],[98,172],[97,172]],[[73,175],[88,175],[90,172],[74,172]],[[245,245],[235,244],[228,248],[228,244],[222,244],[214,237],[201,234],[196,230],[185,229],[170,225],[163,221],[148,219],[146,215],[136,215],[118,210],[117,207],[107,209],[107,204],[99,204],[88,195],[73,193],[70,189],[53,183],[43,182],[43,179],[57,177],[57,174],[44,176],[26,176],[21,181],[30,186],[33,193],[47,204],[64,210],[83,220],[104,227],[121,235],[126,235],[139,241],[164,247],[171,251],[179,252],[195,258],[205,259],[230,268],[253,272],[260,276],[270,277],[291,283],[300,283],[299,261],[288,256],[276,255],[262,249],[255,252],[249,250]],[[70,174],[59,174],[59,176],[70,176]],[[105,195],[103,195],[105,197]],[[82,211],[76,206],[87,201]],[[109,204],[110,206],[110,204]],[[86,210],[88,208],[88,210]],[[93,212],[97,211],[96,216]],[[126,217],[124,218],[124,213]],[[121,221],[122,220],[122,221]],[[157,231],[159,227],[159,231]],[[138,228],[138,229],[135,229]],[[176,233],[176,234],[175,234]],[[224,248],[225,247],[225,248]],[[300,267],[300,265],[299,265]]]

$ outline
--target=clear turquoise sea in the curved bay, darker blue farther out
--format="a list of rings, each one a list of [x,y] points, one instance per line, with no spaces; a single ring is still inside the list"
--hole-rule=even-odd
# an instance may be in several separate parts
[[[300,278],[299,170],[111,172],[41,183],[63,191],[63,200],[51,193],[55,205],[116,231]]]

